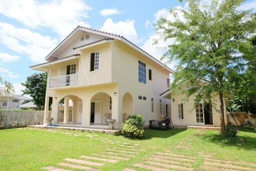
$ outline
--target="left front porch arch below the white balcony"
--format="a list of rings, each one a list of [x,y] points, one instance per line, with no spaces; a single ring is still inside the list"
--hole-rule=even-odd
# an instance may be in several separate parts
[[[66,95],[58,101],[57,122],[69,124],[82,123],[82,99]]]

